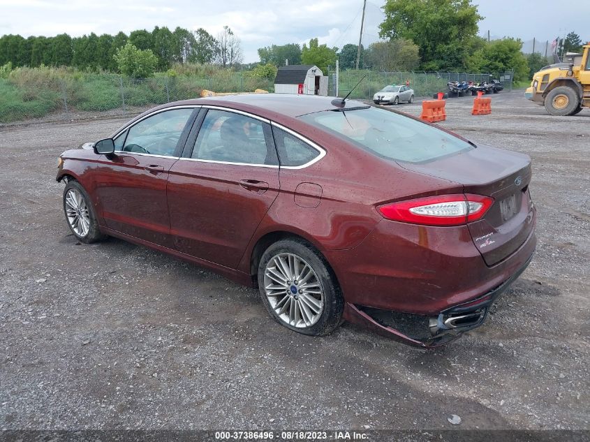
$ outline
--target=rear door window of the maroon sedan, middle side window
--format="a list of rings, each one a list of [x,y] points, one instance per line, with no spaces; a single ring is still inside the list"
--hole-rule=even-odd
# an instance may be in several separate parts
[[[276,154],[267,147],[262,121],[213,109],[207,111],[202,121],[191,158],[223,163],[276,165]]]

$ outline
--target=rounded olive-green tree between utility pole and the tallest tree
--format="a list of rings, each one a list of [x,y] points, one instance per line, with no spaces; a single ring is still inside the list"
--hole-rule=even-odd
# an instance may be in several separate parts
[[[413,71],[420,64],[418,52],[418,45],[403,38],[378,41],[367,48],[364,64],[376,71]]]

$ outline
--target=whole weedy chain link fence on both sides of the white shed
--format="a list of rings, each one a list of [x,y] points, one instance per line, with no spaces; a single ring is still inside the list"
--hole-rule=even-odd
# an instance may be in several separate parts
[[[336,95],[336,73],[328,74],[329,91]],[[451,81],[482,82],[489,74],[340,71],[339,96],[371,99],[388,84],[406,84],[416,98],[432,97],[448,91]],[[502,75],[500,80],[504,80]],[[508,83],[508,81],[510,83]],[[154,105],[198,98],[202,89],[215,92],[274,91],[274,80],[250,78],[242,72],[220,71],[216,75],[157,76],[134,80],[109,73],[70,73],[50,75],[37,69],[15,70],[0,76],[0,126],[36,121],[70,121],[94,117],[135,115]],[[506,73],[505,89],[511,88],[512,75]]]

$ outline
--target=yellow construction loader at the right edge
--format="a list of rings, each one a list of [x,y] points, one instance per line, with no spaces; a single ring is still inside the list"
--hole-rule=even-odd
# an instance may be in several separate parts
[[[551,115],[576,115],[590,108],[590,42],[567,63],[551,64],[535,73],[524,96],[544,105]]]

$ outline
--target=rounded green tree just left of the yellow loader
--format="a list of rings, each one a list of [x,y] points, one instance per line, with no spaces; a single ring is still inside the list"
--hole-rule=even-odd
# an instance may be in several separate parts
[[[514,69],[516,81],[529,78],[529,64],[521,52],[522,41],[514,38],[492,40],[467,60],[469,71],[499,75]]]

